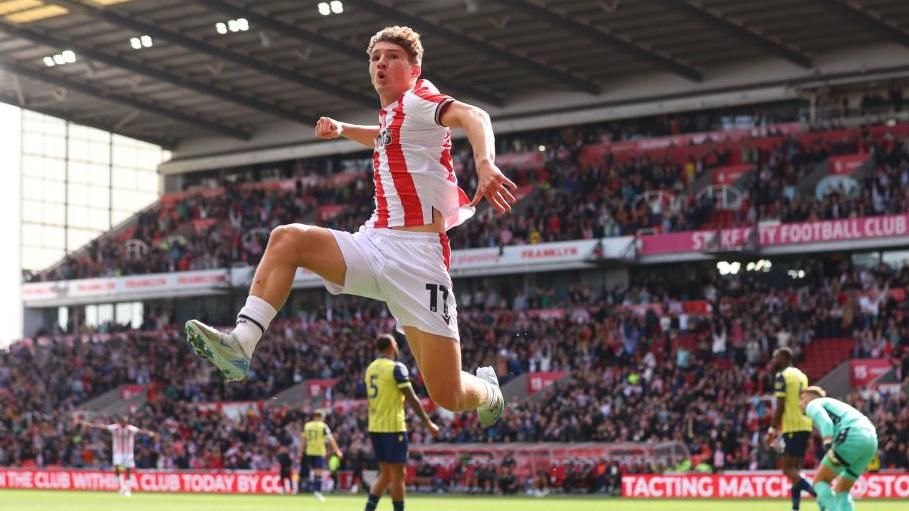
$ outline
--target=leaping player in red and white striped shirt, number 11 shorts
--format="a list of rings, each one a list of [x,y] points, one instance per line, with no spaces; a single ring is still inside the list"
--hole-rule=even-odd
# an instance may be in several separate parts
[[[318,274],[332,293],[382,300],[407,336],[430,397],[452,411],[477,410],[489,426],[504,399],[491,367],[461,371],[457,306],[448,273],[445,231],[473,215],[484,197],[499,212],[515,203],[515,184],[495,164],[494,136],[483,110],[442,94],[421,79],[423,47],[408,27],[386,27],[369,42],[369,75],[379,94],[377,125],[328,117],[316,135],[345,137],[374,150],[372,217],[351,234],[302,224],[271,232],[246,305],[230,333],[197,320],[188,341],[227,380],[242,380],[259,339],[290,293],[298,267]],[[473,200],[458,187],[451,131],[461,128],[473,148],[478,186]]]

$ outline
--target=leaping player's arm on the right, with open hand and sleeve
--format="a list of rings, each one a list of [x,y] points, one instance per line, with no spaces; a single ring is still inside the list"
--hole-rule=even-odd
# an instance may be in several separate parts
[[[514,194],[518,187],[496,166],[495,135],[489,114],[482,108],[452,101],[445,107],[439,121],[444,126],[463,129],[473,148],[478,180],[470,205],[476,206],[485,197],[496,211],[511,211],[512,204],[517,202]]]

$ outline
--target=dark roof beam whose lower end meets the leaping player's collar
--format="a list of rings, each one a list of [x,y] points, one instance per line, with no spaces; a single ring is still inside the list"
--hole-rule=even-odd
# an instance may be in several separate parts
[[[351,103],[367,106],[369,108],[375,108],[376,106],[376,99],[374,97],[347,89],[340,84],[326,82],[319,78],[299,73],[292,69],[263,62],[250,55],[244,55],[233,50],[221,48],[220,46],[208,44],[199,39],[195,39],[181,33],[174,32],[172,30],[163,29],[153,23],[146,23],[125,14],[115,12],[112,9],[90,7],[87,4],[83,4],[74,0],[54,0],[54,3],[63,5],[73,12],[78,12],[80,14],[91,16],[95,19],[106,21],[111,25],[135,30],[136,32],[142,34],[148,34],[155,39],[168,41],[172,44],[182,46],[188,50],[202,53],[226,62],[231,62],[238,66],[252,69],[259,73],[273,76],[296,85],[302,85],[303,87],[317,90],[319,92],[341,98]]]

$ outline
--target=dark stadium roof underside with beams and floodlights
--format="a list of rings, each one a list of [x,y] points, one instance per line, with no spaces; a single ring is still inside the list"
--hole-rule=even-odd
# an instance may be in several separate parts
[[[166,147],[248,140],[374,110],[364,47],[389,24],[422,33],[443,90],[505,112],[539,91],[593,101],[617,76],[707,83],[755,59],[807,75],[909,47],[905,0],[0,0],[0,101]]]

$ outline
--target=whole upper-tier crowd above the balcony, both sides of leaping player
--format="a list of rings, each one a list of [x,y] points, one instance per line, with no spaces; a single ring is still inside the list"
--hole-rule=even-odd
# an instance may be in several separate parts
[[[716,226],[716,198],[690,192],[702,175],[730,161],[728,147],[720,144],[716,150],[681,159],[641,153],[619,160],[609,151],[599,160],[582,157],[585,147],[609,138],[610,133],[603,127],[577,127],[527,134],[528,140],[541,142],[542,168],[505,165],[503,170],[528,197],[505,217],[481,207],[478,218],[452,231],[452,247]],[[807,221],[909,211],[909,160],[903,141],[873,137],[867,129],[842,140],[803,143],[798,135],[776,139],[779,142],[770,149],[750,139],[742,141],[736,161],[754,164],[757,170],[738,184],[744,199],[737,210],[728,212],[731,218],[723,216],[723,222],[752,225],[766,219]],[[520,140],[512,136],[501,143],[526,151],[527,143]],[[876,170],[852,186],[830,187],[822,198],[815,197],[813,190],[799,190],[818,163],[832,155],[856,152],[873,154]],[[473,190],[476,177],[470,150],[463,144],[456,147],[454,159],[461,185]],[[372,175],[368,160],[347,163],[345,174],[297,178],[283,188],[228,183],[222,193],[199,192],[162,202],[139,214],[125,234],[102,236],[29,278],[63,280],[255,265],[271,229],[278,225],[305,222],[355,231],[372,213]]]

